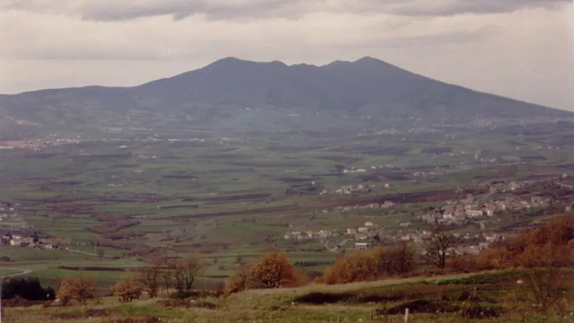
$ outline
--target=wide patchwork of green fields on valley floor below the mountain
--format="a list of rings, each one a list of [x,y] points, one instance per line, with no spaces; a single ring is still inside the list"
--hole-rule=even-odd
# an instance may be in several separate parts
[[[274,129],[249,135],[248,124],[258,122],[260,116],[250,118],[224,132],[236,140],[174,124],[164,128],[161,138],[174,135],[205,141],[142,140],[121,133],[108,135],[122,139],[113,142],[103,133],[92,133],[94,141],[80,144],[0,151],[0,201],[5,209],[0,213],[8,212],[8,205],[15,208],[10,213],[17,213],[0,221],[3,233],[37,232],[67,241],[60,250],[1,245],[0,255],[14,262],[0,267],[30,267],[41,279],[57,283],[69,274],[58,270],[61,265],[145,265],[146,257],[130,255],[138,243],[151,254],[196,254],[205,261],[205,279],[221,279],[238,267],[237,257],[252,262],[269,249],[285,249],[293,261],[334,260],[339,252],[330,248],[346,239],[346,229],[367,221],[389,234],[409,221],[414,229],[428,228],[415,220],[416,215],[442,206],[447,197],[466,196],[455,191],[467,186],[475,190],[473,185],[482,181],[574,174],[568,164],[574,160],[574,142],[564,140],[574,135],[574,129],[567,124],[552,131],[534,125],[526,133],[507,126],[496,131],[437,128],[432,133],[358,136],[362,129],[356,124],[348,133],[339,133],[337,127],[345,124],[341,121],[312,134]],[[316,121],[310,118],[309,126]],[[559,149],[540,148],[548,145]],[[488,161],[491,158],[499,159]],[[370,192],[318,194],[360,184],[371,185]],[[400,205],[335,211],[337,206],[389,199]],[[548,218],[532,215],[525,220],[526,216],[489,221],[489,229]],[[291,231],[320,230],[340,235],[302,242],[283,238]],[[352,243],[342,248],[353,247]],[[119,277],[93,274],[101,276],[103,288]]]

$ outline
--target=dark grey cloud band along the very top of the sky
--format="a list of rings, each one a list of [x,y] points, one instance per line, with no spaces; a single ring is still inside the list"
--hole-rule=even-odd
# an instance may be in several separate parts
[[[175,20],[194,15],[208,19],[251,19],[280,17],[296,19],[308,13],[394,14],[443,16],[460,13],[509,13],[525,7],[552,8],[571,0],[12,0],[1,9],[79,15],[85,20],[125,21],[171,15]]]

